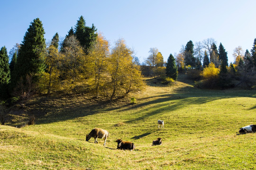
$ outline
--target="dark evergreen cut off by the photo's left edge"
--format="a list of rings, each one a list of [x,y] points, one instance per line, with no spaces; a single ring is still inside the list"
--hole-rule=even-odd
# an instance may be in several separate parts
[[[8,97],[8,84],[10,80],[9,57],[7,49],[3,46],[0,50],[0,98]]]

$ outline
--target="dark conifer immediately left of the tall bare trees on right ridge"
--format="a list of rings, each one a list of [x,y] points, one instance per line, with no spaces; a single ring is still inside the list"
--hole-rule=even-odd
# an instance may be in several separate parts
[[[194,58],[194,44],[193,42],[190,40],[189,42],[187,42],[186,46],[185,46],[185,50],[184,50],[184,62],[185,65],[188,66],[190,65],[191,67],[195,67],[195,61],[196,59]]]

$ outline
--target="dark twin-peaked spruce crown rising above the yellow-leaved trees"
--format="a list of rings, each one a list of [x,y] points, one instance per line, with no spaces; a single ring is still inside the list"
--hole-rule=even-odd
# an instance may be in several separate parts
[[[80,42],[80,45],[84,48],[84,51],[88,53],[91,45],[96,41],[96,27],[92,24],[91,27],[86,26],[84,18],[81,16],[75,26],[75,36]]]

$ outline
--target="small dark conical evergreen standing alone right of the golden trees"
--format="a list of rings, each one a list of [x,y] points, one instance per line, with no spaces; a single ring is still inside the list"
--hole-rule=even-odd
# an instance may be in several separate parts
[[[166,76],[173,78],[174,80],[178,77],[178,68],[175,63],[174,56],[170,54],[166,63]]]

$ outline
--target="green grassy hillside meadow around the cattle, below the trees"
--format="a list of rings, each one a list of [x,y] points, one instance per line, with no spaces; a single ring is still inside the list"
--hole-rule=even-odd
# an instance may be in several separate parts
[[[256,91],[201,90],[189,83],[182,76],[173,86],[147,80],[146,90],[133,95],[136,104],[37,97],[26,104],[39,118],[36,125],[0,126],[0,169],[256,169],[256,134],[237,135],[239,127],[256,124]],[[94,127],[110,132],[105,147],[102,139],[85,141]],[[158,137],[163,144],[152,146]],[[117,150],[117,138],[136,149]]]

